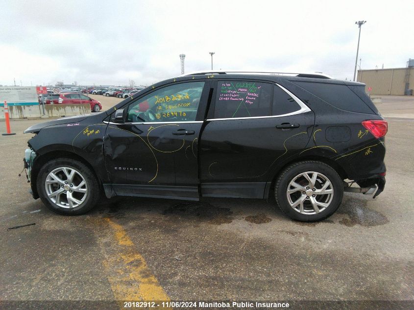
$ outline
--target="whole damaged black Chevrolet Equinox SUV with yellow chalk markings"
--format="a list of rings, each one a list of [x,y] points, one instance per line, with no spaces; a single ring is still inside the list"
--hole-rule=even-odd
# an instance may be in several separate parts
[[[263,198],[301,221],[332,215],[343,191],[384,190],[387,122],[364,84],[323,74],[197,72],[90,116],[24,131],[33,197],[83,214],[101,192]],[[359,187],[357,187],[358,185]]]

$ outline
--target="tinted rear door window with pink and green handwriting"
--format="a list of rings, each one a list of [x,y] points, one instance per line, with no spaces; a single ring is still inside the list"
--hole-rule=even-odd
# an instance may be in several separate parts
[[[272,86],[251,81],[219,81],[215,119],[269,116]]]

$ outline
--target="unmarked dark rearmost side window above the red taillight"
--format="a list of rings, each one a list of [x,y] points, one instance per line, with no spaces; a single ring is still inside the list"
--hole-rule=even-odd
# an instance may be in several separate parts
[[[373,114],[365,102],[344,84],[293,82],[327,103],[345,111]]]

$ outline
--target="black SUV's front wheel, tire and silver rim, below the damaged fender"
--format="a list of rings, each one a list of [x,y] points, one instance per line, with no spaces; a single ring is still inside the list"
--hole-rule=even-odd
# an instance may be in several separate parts
[[[83,163],[69,158],[53,159],[40,169],[37,191],[50,210],[62,215],[87,213],[96,205],[100,195],[94,172]]]

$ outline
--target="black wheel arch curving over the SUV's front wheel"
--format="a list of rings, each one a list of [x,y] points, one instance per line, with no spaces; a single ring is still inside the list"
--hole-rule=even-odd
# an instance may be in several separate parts
[[[33,191],[33,197],[34,198],[38,198],[39,197],[39,193],[37,192],[37,175],[40,171],[40,169],[50,160],[54,159],[54,158],[60,158],[60,157],[66,157],[66,158],[70,158],[73,160],[77,160],[81,163],[83,163],[84,165],[88,166],[95,174],[95,176],[97,177],[97,180],[99,181],[100,186],[102,187],[102,182],[99,178],[99,176],[97,175],[97,173],[95,172],[94,168],[81,156],[72,153],[72,152],[68,152],[68,151],[51,151],[49,153],[43,154],[39,157],[37,157],[34,161],[33,164],[33,168],[31,170],[31,174],[30,174],[30,184],[31,184],[31,189]]]

